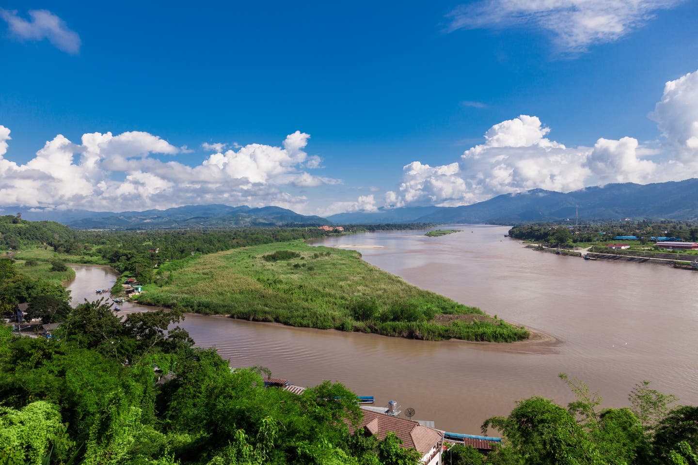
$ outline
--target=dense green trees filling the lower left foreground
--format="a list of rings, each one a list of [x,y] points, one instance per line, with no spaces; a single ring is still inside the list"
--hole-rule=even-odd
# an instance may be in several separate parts
[[[52,339],[0,327],[2,464],[404,464],[395,436],[350,434],[355,395],[325,383],[295,395],[260,370],[193,348],[176,311],[71,309]]]

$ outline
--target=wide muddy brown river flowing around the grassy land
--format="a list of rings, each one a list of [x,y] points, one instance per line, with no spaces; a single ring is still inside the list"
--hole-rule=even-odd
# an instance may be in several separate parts
[[[262,365],[300,386],[340,381],[378,406],[395,399],[403,411],[415,409],[413,419],[451,432],[480,434],[483,420],[533,395],[570,402],[560,372],[598,390],[604,406],[627,406],[642,380],[698,404],[698,273],[535,252],[505,238],[508,227],[455,227],[463,232],[378,232],[315,245],[359,250],[407,282],[558,342],[425,342],[195,314],[181,326],[233,367]],[[74,268],[74,303],[94,299],[94,289],[116,277],[110,268]]]

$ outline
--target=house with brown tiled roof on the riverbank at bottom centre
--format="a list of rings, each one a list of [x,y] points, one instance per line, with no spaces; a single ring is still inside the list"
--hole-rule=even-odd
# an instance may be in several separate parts
[[[441,464],[443,434],[436,429],[385,413],[369,410],[364,410],[363,413],[364,419],[359,425],[359,429],[364,429],[369,434],[375,434],[381,440],[385,439],[388,432],[393,432],[402,441],[401,447],[413,448],[422,455],[422,464]]]

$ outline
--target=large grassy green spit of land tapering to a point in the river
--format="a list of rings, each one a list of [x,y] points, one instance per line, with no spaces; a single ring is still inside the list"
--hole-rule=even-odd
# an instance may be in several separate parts
[[[302,241],[163,264],[138,302],[290,326],[424,340],[512,342],[527,330],[404,282],[361,254]]]

